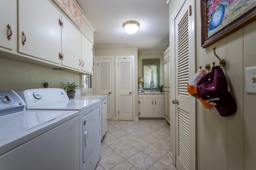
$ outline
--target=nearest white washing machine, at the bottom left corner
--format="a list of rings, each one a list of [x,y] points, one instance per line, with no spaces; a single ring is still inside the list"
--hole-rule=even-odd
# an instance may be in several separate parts
[[[0,169],[78,169],[78,111],[25,107],[16,92],[0,91]]]

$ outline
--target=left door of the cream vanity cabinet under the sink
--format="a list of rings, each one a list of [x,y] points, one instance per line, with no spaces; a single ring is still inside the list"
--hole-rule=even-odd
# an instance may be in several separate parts
[[[154,117],[153,107],[154,101],[153,99],[140,98],[139,104],[139,117]]]

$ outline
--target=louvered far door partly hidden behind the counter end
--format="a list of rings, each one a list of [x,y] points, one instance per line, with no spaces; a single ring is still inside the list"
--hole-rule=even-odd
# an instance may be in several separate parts
[[[112,59],[98,59],[98,94],[107,97],[107,119],[112,120]]]

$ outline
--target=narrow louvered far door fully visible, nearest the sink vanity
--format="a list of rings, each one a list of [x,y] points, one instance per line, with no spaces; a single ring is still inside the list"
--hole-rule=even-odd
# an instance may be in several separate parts
[[[118,119],[132,120],[132,58],[118,59]]]

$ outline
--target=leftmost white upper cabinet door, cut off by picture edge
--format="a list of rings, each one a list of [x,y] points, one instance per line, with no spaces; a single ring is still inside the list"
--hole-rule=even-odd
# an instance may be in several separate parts
[[[1,0],[0,1],[0,46],[8,49],[17,50],[17,1],[16,0]],[[12,35],[8,40],[7,36],[12,30]]]

